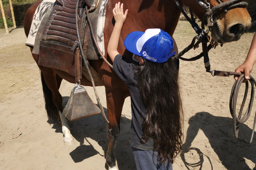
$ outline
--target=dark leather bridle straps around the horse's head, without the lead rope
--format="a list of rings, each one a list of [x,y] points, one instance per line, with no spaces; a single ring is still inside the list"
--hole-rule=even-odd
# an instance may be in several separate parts
[[[221,12],[227,13],[229,10],[231,10],[233,8],[247,7],[248,4],[246,2],[242,2],[242,0],[230,0],[227,2],[223,2],[223,3],[220,0],[216,0],[219,3],[219,5],[211,8],[209,0],[202,0],[202,1],[195,0],[195,1],[206,11],[205,15],[203,16],[202,22],[201,22],[202,23],[201,28],[196,23],[191,9],[189,8],[189,12],[191,15],[191,18],[189,18],[187,13],[183,10],[182,5],[180,5],[179,0],[174,0],[174,2],[177,4],[178,8],[180,9],[181,13],[190,22],[191,26],[193,27],[193,29],[195,30],[197,35],[193,38],[193,40],[191,41],[191,44],[188,47],[186,47],[185,49],[183,49],[179,54],[174,56],[173,59],[177,60],[178,58],[180,58],[181,60],[184,60],[184,61],[195,61],[204,56],[204,65],[205,65],[206,72],[210,72],[213,75],[214,71],[211,71],[211,65],[210,65],[208,52],[213,47],[216,47],[218,45],[218,43],[214,42],[213,40],[210,41],[210,36],[208,35],[208,33],[210,32],[213,24],[216,22],[215,16],[220,14]],[[205,29],[205,24],[206,24],[206,29]],[[196,42],[196,40],[197,40],[197,42]],[[202,43],[202,48],[203,48],[203,52],[201,54],[199,54],[195,57],[192,57],[192,58],[181,57],[182,55],[187,53],[190,49],[198,48],[200,43]],[[210,44],[207,46],[207,43],[210,43]],[[221,44],[221,46],[222,46],[222,44]]]

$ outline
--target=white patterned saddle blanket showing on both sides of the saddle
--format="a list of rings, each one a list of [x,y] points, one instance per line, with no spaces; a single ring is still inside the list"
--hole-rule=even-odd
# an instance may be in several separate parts
[[[44,26],[42,21],[47,21],[51,11],[53,10],[53,6],[55,0],[44,0],[41,4],[38,5],[34,18],[31,24],[31,28],[29,31],[29,35],[26,41],[26,45],[29,47],[34,47],[33,53],[39,54],[39,43],[42,37],[42,33],[38,32],[39,27]],[[106,17],[106,8],[107,8],[108,0],[101,0],[98,8],[98,23],[97,23],[97,43],[98,46],[105,55],[105,47],[104,47],[104,27],[105,27],[105,17]],[[98,11],[98,10],[97,10]],[[42,24],[42,25],[41,25]],[[95,30],[95,29],[94,29]],[[38,33],[37,33],[38,32]],[[36,49],[35,49],[36,48]]]

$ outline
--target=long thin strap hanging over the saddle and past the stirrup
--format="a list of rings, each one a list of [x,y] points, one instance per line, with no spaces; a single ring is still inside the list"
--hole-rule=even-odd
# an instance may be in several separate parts
[[[83,46],[82,46],[82,43],[81,43],[81,39],[80,39],[80,36],[79,36],[79,30],[78,30],[78,4],[79,4],[79,0],[77,0],[77,3],[76,3],[76,33],[77,33],[77,39],[78,39],[78,45],[79,45],[79,48],[80,48],[80,52],[81,52],[81,55],[83,57],[83,61],[84,61],[84,65],[86,67],[86,70],[91,78],[91,82],[92,82],[92,86],[93,86],[93,90],[94,90],[94,94],[96,96],[96,99],[98,101],[98,105],[100,106],[100,110],[101,110],[101,113],[102,113],[102,116],[105,118],[105,120],[109,123],[106,115],[105,115],[105,112],[104,112],[104,109],[103,109],[103,106],[100,102],[100,98],[98,96],[98,93],[97,93],[97,90],[96,90],[96,87],[95,87],[95,83],[94,83],[94,80],[93,80],[93,77],[92,77],[92,74],[91,74],[91,71],[90,71],[90,68],[89,68],[89,62],[87,60],[87,58],[85,58],[84,56],[84,51],[83,51]],[[85,10],[86,10],[86,13],[87,13],[87,5],[85,6]],[[87,15],[88,16],[88,15]]]

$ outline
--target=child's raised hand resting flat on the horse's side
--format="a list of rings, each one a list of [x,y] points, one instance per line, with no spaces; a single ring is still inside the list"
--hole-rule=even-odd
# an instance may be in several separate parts
[[[113,15],[114,15],[116,23],[120,23],[122,25],[124,24],[124,21],[126,20],[126,16],[128,13],[128,10],[125,10],[125,12],[124,12],[123,6],[124,6],[124,4],[121,4],[121,6],[120,6],[120,2],[118,2],[113,9]]]

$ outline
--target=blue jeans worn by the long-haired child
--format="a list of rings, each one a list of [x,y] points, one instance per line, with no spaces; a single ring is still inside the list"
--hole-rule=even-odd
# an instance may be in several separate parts
[[[153,150],[140,150],[132,147],[137,170],[172,170],[172,163],[163,164],[158,161]]]

